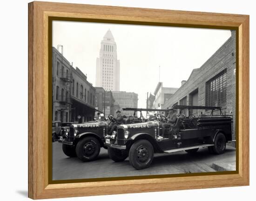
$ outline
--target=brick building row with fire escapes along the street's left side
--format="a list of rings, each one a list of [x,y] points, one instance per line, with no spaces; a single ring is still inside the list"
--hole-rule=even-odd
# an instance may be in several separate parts
[[[63,48],[63,47],[62,47]],[[85,122],[94,117],[95,88],[87,76],[52,48],[52,120]],[[80,118],[79,118],[80,117]]]

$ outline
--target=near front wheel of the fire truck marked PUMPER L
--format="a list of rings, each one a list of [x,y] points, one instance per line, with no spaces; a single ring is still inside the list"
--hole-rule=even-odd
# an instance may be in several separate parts
[[[129,161],[135,169],[148,168],[154,157],[154,148],[148,140],[138,140],[129,151]]]

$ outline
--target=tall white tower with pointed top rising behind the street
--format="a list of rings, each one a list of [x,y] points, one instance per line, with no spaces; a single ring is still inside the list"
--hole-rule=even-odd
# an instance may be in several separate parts
[[[120,90],[120,62],[117,60],[116,43],[110,30],[101,40],[100,57],[96,61],[96,86],[106,91]]]

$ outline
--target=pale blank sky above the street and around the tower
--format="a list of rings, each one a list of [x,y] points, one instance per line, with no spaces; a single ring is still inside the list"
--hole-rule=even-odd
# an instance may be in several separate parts
[[[146,108],[147,92],[157,83],[181,86],[229,39],[229,30],[167,26],[119,25],[91,22],[53,22],[53,46],[95,86],[96,58],[110,29],[120,60],[120,91],[138,94],[138,108]],[[160,67],[159,67],[160,66]]]

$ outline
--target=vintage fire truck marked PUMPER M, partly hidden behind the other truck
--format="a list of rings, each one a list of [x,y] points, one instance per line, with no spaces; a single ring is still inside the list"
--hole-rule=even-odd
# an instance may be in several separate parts
[[[103,117],[104,118],[104,117]],[[124,123],[140,123],[141,119],[136,117],[125,118]],[[81,161],[93,161],[100,154],[101,147],[104,145],[105,136],[108,130],[115,123],[115,118],[108,116],[108,120],[97,120],[79,124],[72,124],[66,136],[60,136],[59,142],[62,143],[62,150],[69,157],[77,156]],[[116,131],[113,131],[116,133]]]

